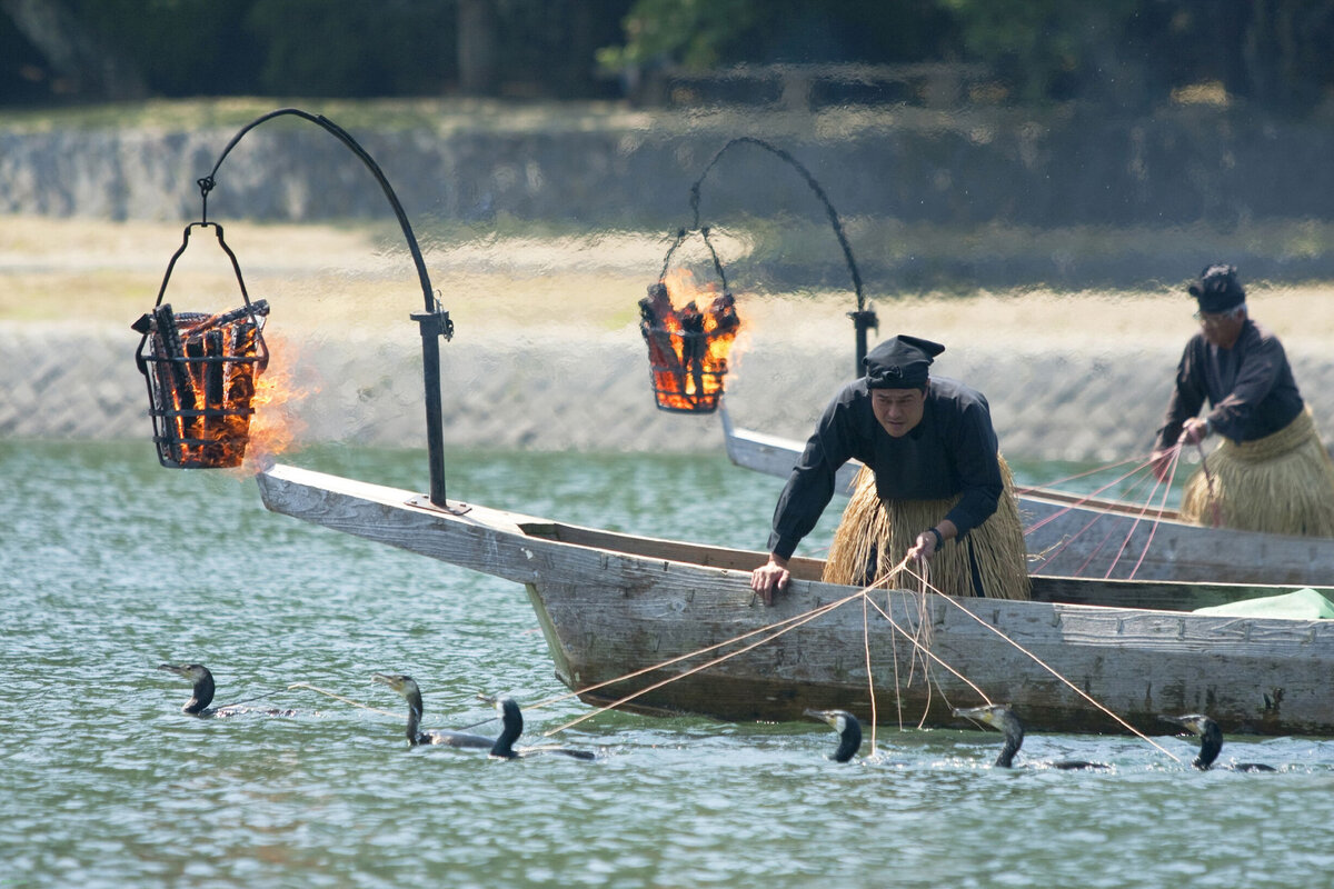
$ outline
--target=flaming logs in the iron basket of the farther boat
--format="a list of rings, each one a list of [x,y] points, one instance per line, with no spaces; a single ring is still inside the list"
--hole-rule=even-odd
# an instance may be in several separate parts
[[[672,305],[668,287],[678,299],[688,300],[680,309]],[[707,305],[703,311],[702,303]],[[696,293],[688,273],[679,272],[671,285],[658,281],[648,287],[648,296],[639,301],[639,315],[658,408],[686,413],[716,411],[727,357],[740,329],[732,295]]]

